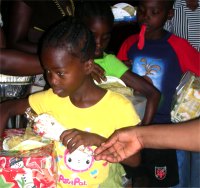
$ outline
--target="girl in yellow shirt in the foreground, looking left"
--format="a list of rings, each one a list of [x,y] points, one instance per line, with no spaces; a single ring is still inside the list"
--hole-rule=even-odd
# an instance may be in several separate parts
[[[140,122],[131,102],[124,96],[98,87],[91,76],[95,41],[91,32],[76,19],[68,17],[54,25],[44,36],[40,59],[51,88],[0,105],[1,133],[9,116],[23,114],[30,106],[37,114],[54,116],[67,130],[55,142],[58,187],[99,187],[113,164],[97,162],[93,155],[76,150],[83,145],[90,153],[114,130]],[[55,133],[56,134],[56,133]],[[138,165],[139,155],[129,165]],[[113,187],[120,187],[115,176]],[[108,187],[104,184],[101,187]]]

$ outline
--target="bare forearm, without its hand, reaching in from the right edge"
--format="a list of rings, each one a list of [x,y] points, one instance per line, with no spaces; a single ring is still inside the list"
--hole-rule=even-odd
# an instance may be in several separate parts
[[[138,130],[137,136],[143,148],[200,151],[200,119],[176,125],[149,126]]]

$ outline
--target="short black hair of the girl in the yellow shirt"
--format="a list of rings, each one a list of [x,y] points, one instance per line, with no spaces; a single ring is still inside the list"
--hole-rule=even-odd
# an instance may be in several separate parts
[[[94,58],[96,45],[93,34],[81,21],[66,16],[43,35],[40,52],[46,47],[65,49],[81,61],[87,61]]]

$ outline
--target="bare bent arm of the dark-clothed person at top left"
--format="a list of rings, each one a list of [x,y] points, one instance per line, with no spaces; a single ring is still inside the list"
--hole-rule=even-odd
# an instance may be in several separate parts
[[[25,52],[36,53],[37,44],[28,40],[32,10],[22,0],[12,2],[8,19],[9,28],[7,44],[9,48],[19,49]]]

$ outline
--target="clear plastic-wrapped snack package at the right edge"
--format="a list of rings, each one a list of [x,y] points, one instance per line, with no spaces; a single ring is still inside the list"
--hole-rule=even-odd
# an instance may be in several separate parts
[[[171,121],[183,122],[200,116],[200,77],[191,72],[184,74],[176,88]]]

